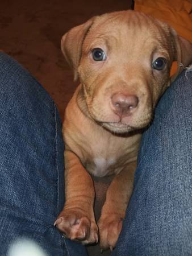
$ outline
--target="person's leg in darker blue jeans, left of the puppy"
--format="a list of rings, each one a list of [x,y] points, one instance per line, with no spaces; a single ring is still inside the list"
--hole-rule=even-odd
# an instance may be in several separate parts
[[[64,204],[64,144],[56,106],[15,60],[0,53],[0,255],[18,238],[48,255],[86,255],[53,226]]]

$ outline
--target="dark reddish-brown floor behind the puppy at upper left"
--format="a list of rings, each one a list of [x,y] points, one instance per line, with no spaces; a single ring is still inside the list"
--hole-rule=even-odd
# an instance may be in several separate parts
[[[55,100],[61,118],[74,91],[61,36],[91,16],[130,9],[131,0],[1,0],[0,49],[24,65]]]

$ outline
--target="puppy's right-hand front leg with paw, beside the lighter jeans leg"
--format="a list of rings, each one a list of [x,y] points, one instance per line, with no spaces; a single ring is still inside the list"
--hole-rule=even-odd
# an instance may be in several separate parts
[[[98,222],[102,249],[110,248],[112,250],[118,241],[127,204],[132,194],[135,170],[136,163],[129,164],[126,169],[114,177],[108,188]]]

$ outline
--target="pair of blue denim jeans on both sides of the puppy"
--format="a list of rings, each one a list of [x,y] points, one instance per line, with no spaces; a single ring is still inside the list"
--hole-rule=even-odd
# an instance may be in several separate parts
[[[191,255],[192,71],[158,103],[141,143],[135,189],[112,255]],[[48,255],[86,255],[53,223],[64,204],[61,122],[48,93],[0,53],[0,255],[16,238]]]

